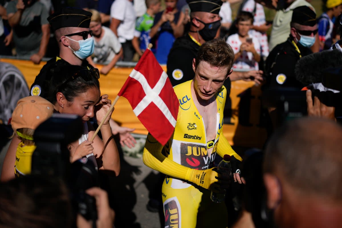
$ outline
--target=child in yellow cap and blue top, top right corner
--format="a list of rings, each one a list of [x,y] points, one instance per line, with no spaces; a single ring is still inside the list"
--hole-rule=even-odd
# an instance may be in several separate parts
[[[329,49],[332,44],[332,19],[342,13],[342,0],[328,0],[326,7],[328,10],[317,19],[320,51]]]

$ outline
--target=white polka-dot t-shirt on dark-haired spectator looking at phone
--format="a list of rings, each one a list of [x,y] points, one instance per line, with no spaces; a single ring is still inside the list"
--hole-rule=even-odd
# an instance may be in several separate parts
[[[255,37],[251,37],[251,36],[250,38],[252,38],[255,51],[257,51],[257,53],[260,55],[260,44],[258,42],[258,39]],[[227,44],[231,45],[234,51],[234,54],[236,54],[240,51],[240,46],[242,42],[239,39],[239,35],[235,33],[227,38]],[[245,70],[259,70],[259,64],[257,61],[255,61],[252,52],[244,51],[242,52],[240,57],[236,59],[232,69],[236,69],[237,71],[238,70],[244,70],[244,71]]]

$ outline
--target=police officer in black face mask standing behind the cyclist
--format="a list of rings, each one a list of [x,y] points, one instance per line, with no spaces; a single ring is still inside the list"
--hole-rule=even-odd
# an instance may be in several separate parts
[[[189,32],[175,40],[167,61],[167,74],[173,86],[194,78],[192,62],[199,47],[214,39],[221,25],[221,0],[187,0],[187,3],[191,11]]]

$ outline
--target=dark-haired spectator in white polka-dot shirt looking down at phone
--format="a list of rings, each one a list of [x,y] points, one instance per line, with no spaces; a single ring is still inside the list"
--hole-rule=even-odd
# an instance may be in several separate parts
[[[258,39],[251,37],[248,31],[253,25],[253,15],[241,11],[236,19],[238,33],[227,38],[227,43],[234,51],[234,65],[236,70],[259,70],[260,44]]]

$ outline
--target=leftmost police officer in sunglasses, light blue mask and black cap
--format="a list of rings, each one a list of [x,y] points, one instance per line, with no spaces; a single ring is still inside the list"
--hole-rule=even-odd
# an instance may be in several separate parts
[[[48,17],[60,48],[59,56],[50,59],[40,70],[31,86],[31,95],[48,95],[49,73],[55,67],[78,65],[93,68],[86,58],[94,51],[94,40],[89,24],[92,13],[75,8],[63,8]]]

